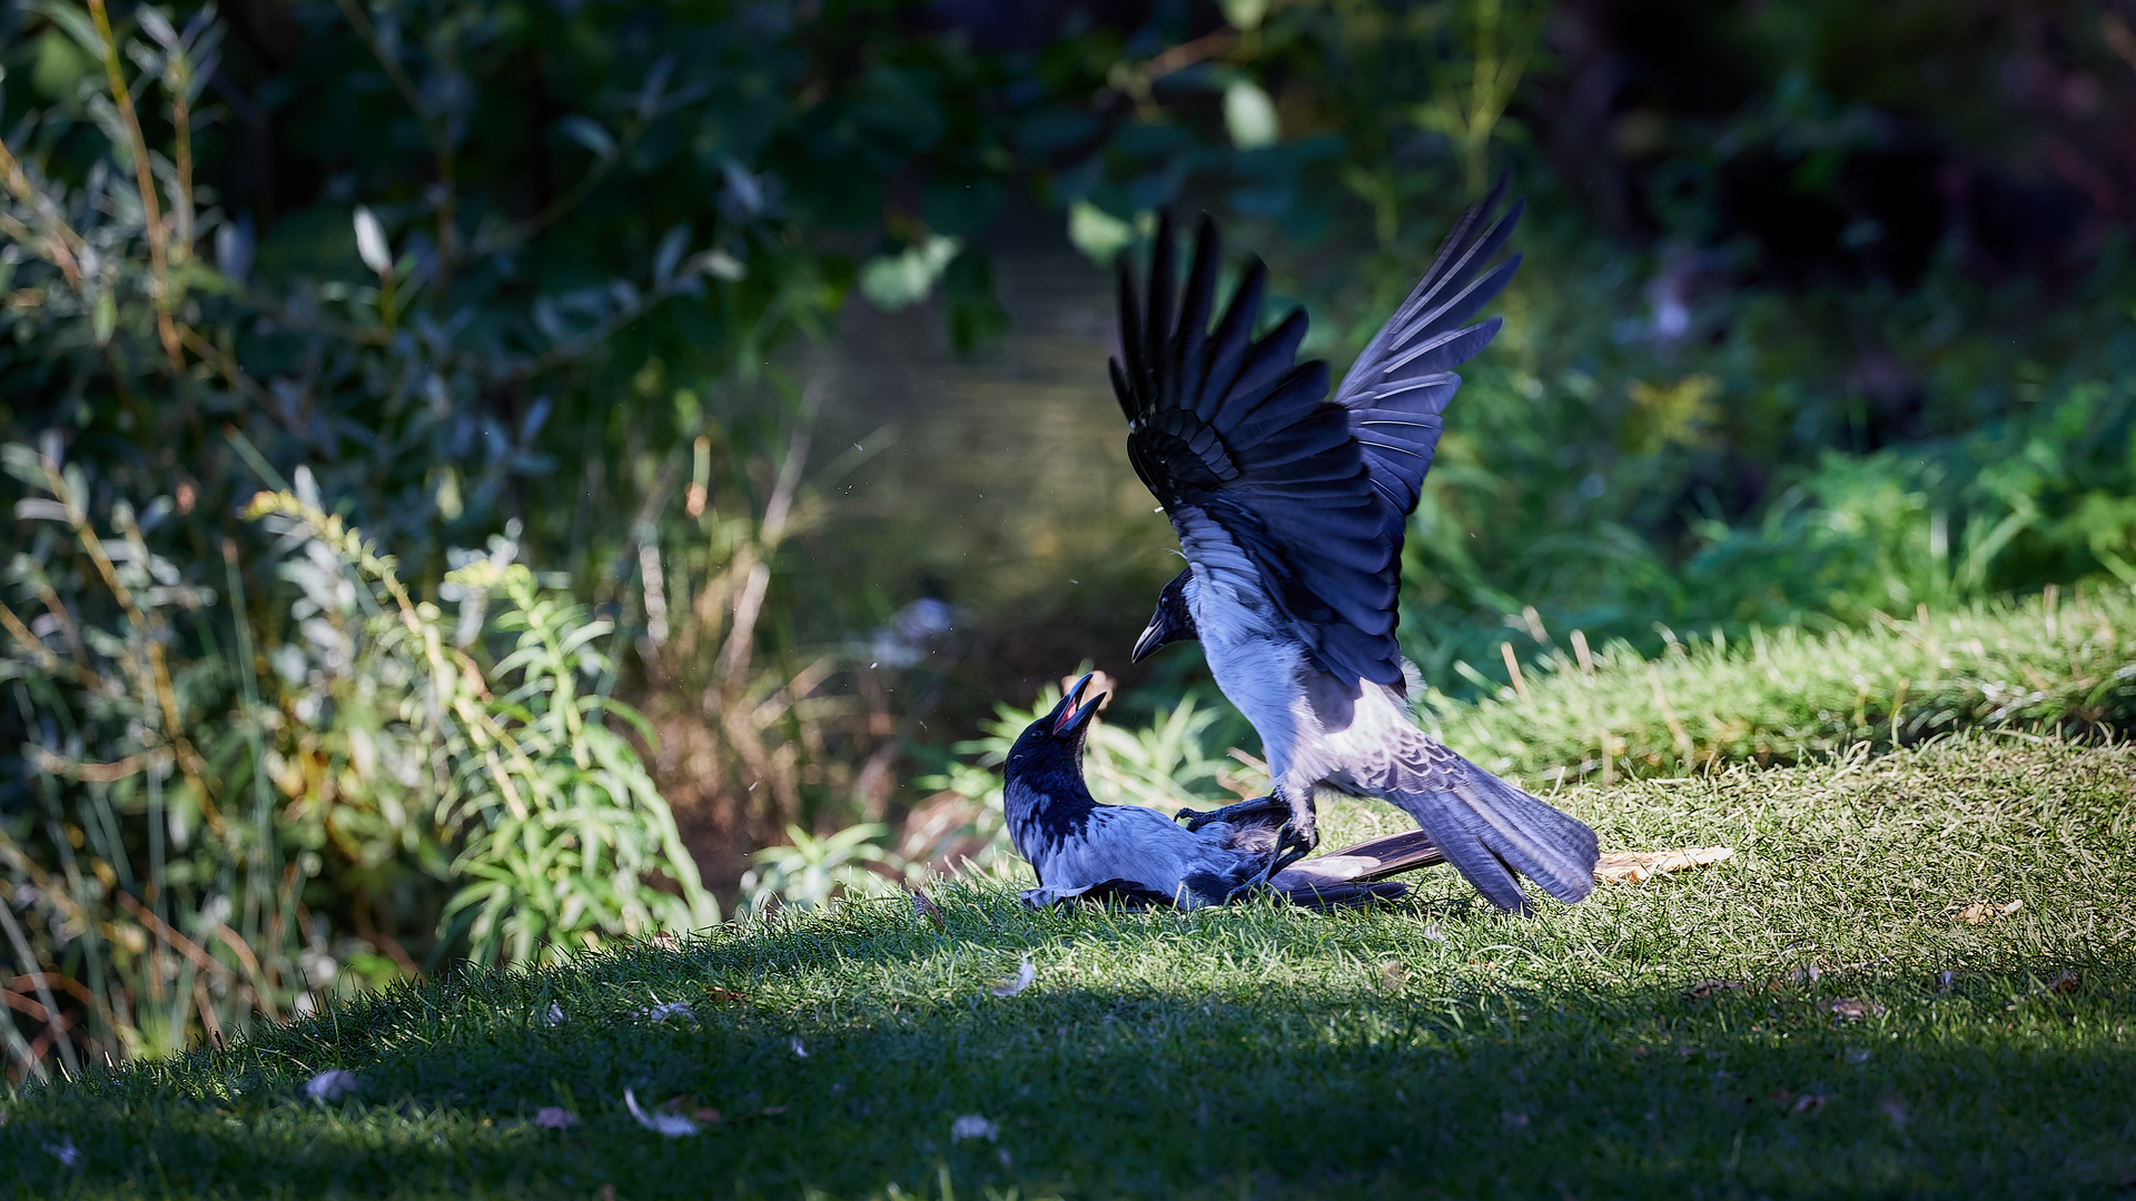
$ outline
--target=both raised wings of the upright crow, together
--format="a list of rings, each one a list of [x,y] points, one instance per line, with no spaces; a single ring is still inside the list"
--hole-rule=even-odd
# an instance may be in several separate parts
[[[1519,265],[1514,256],[1476,274],[1521,214],[1514,205],[1485,224],[1497,199],[1461,218],[1333,400],[1326,363],[1297,361],[1303,310],[1254,338],[1267,293],[1258,261],[1211,327],[1215,222],[1205,218],[1194,235],[1183,288],[1168,218],[1147,288],[1132,265],[1119,267],[1121,357],[1111,376],[1128,417],[1128,459],[1190,560],[1265,590],[1320,665],[1350,680],[1403,684],[1395,648],[1403,524],[1438,449],[1440,410],[1461,387],[1448,368],[1482,350],[1499,325],[1461,323]]]

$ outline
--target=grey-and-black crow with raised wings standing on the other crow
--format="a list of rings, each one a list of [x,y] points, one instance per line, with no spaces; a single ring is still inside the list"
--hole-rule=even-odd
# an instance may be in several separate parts
[[[1211,329],[1222,250],[1207,218],[1177,303],[1168,220],[1147,295],[1121,261],[1111,368],[1128,457],[1188,560],[1134,658],[1200,639],[1260,733],[1273,804],[1288,810],[1269,872],[1318,842],[1314,795],[1333,789],[1395,804],[1491,904],[1525,913],[1517,874],[1561,902],[1593,889],[1596,836],[1416,729],[1395,645],[1401,539],[1461,387],[1450,368],[1497,333],[1499,318],[1467,321],[1521,263],[1491,267],[1521,216],[1514,203],[1487,220],[1497,199],[1461,216],[1333,397],[1326,363],[1297,361],[1303,312],[1254,338],[1258,261]],[[1239,808],[1192,821],[1235,821]]]

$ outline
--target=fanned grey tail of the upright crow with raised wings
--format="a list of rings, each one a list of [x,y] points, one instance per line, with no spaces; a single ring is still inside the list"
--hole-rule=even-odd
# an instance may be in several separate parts
[[[1596,887],[1596,831],[1461,761],[1463,778],[1444,793],[1386,793],[1497,908],[1527,913],[1512,872],[1572,904]]]

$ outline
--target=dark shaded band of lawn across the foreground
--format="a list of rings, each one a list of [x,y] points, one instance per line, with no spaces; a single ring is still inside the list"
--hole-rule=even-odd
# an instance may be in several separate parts
[[[1452,923],[1463,908],[1410,917]],[[953,913],[959,936],[1000,921]],[[1094,915],[1023,938],[1132,955],[1143,921]],[[1207,934],[1226,921],[1173,925]],[[1365,925],[1331,921],[1335,938],[1346,921]],[[859,981],[871,962],[929,945],[773,934],[604,960],[590,983],[617,987],[617,1013],[581,1000],[553,1028],[525,1021],[540,977],[474,979],[470,996],[496,1007],[491,1028],[402,1021],[384,1047],[365,1039],[359,1002],[337,1036],[320,1019],[231,1056],[250,1066],[226,1096],[160,1090],[145,1069],[32,1098],[0,1145],[26,1195],[70,1182],[211,1188],[239,1169],[282,1195],[613,1184],[624,1197],[861,1195],[891,1182],[933,1195],[940,1171],[961,1190],[1023,1195],[2108,1195],[2136,1171],[2136,960],[2119,953],[1997,962],[1948,989],[1873,968],[1807,983],[1581,983],[1581,968],[1499,955],[1536,979],[1463,983],[1455,970],[1254,998],[1230,981],[912,1007],[778,1000],[780,974],[799,964],[837,962]],[[690,1021],[619,1011],[626,985],[643,996],[649,981],[694,981],[701,998],[743,979],[748,1000],[698,1000]],[[425,992],[466,1013],[468,1000]],[[359,1071],[361,1105],[303,1103],[258,1075],[305,1075],[316,1062],[299,1043]],[[720,1122],[660,1139],[624,1113],[624,1088],[647,1105],[686,1096],[684,1109],[718,1109]],[[525,1126],[540,1105],[570,1105],[583,1124]],[[88,1113],[100,1120],[75,1122]],[[991,1133],[953,1139],[965,1113]],[[43,1150],[60,1135],[83,1154],[79,1175]]]

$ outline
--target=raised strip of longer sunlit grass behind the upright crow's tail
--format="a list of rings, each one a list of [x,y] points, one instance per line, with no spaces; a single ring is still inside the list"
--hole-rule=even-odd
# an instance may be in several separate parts
[[[2136,596],[2121,586],[2048,590],[1824,635],[1790,626],[1670,639],[1655,660],[1625,643],[1579,654],[1568,637],[1527,662],[1519,688],[1476,703],[1433,697],[1425,718],[1470,759],[1544,786],[1799,763],[1965,729],[2127,731]]]

